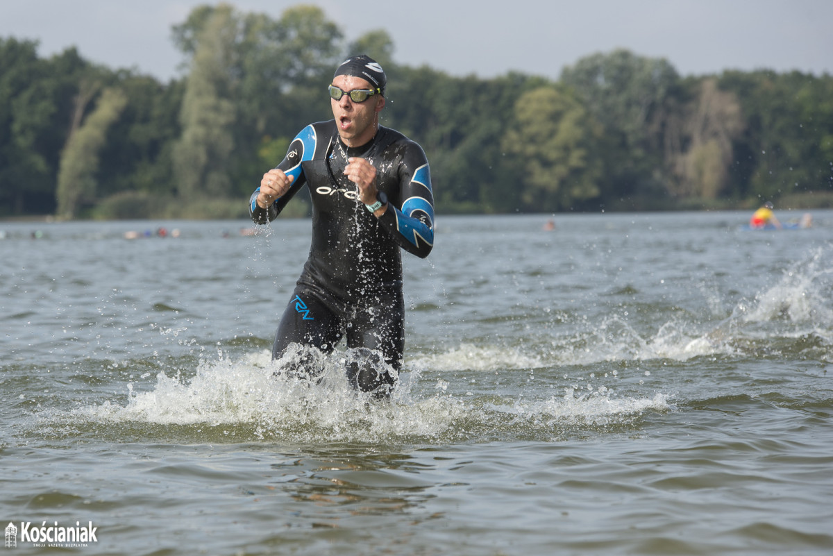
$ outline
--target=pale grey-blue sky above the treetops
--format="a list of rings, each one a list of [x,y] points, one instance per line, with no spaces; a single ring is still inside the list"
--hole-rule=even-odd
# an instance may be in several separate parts
[[[171,27],[204,0],[0,0],[0,37],[77,47],[90,62],[162,82],[180,75]],[[322,7],[346,40],[384,29],[393,59],[453,76],[524,72],[557,79],[597,52],[666,58],[681,75],[727,69],[833,74],[831,0],[229,0],[278,19]]]

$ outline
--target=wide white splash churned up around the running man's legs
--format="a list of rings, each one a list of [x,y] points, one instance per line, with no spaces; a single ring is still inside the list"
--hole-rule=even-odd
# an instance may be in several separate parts
[[[490,370],[513,360],[511,352],[485,350]],[[428,360],[453,362],[459,350]],[[104,425],[113,430],[176,429],[192,442],[234,440],[272,442],[426,442],[503,437],[552,439],[600,425],[631,422],[644,410],[668,410],[666,399],[617,398],[604,387],[580,391],[568,387],[563,397],[552,390],[501,395],[472,394],[436,387],[441,380],[421,380],[421,371],[400,376],[390,400],[374,400],[347,384],[343,354],[327,356],[320,380],[275,375],[280,362],[267,351],[232,360],[220,355],[203,360],[196,374],[160,372],[147,391],[131,391],[127,403],[105,400],[48,419]],[[489,359],[492,357],[492,359]],[[424,360],[423,360],[424,361]],[[484,364],[483,369],[486,370]],[[430,371],[426,374],[431,374]],[[537,398],[534,397],[537,395]],[[541,395],[548,397],[541,399]],[[182,433],[187,429],[187,433]],[[181,440],[180,440],[181,441]]]

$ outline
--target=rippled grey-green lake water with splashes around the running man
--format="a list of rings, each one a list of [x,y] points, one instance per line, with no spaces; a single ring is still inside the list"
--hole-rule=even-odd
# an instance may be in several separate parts
[[[390,401],[272,376],[309,221],[0,222],[7,552],[829,555],[813,216],[440,216]]]

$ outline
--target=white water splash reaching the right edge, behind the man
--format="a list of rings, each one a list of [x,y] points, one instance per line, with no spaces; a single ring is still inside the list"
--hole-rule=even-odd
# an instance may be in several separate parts
[[[751,299],[737,301],[731,315],[716,324],[712,318],[721,314],[721,302],[711,292],[706,295],[705,315],[676,315],[653,329],[646,330],[646,323],[627,312],[608,314],[597,322],[578,321],[577,331],[551,340],[544,350],[550,355],[538,359],[544,365],[594,365],[792,351],[831,360],[833,270],[827,268],[831,252],[830,247],[812,251],[776,276],[774,284]]]

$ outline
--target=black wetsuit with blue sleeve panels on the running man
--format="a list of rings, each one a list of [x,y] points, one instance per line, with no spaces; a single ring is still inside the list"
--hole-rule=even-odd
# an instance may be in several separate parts
[[[347,158],[367,159],[377,169],[377,189],[387,211],[373,216],[358,199],[356,184],[344,175]],[[262,209],[249,203],[252,221],[272,221],[298,190],[312,197],[312,246],[272,345],[272,358],[292,344],[330,352],[347,336],[347,347],[361,349],[364,362],[348,365],[352,384],[362,390],[392,385],[379,375],[374,353],[388,365],[402,366],[404,301],[400,249],[426,257],[434,243],[434,207],[428,161],[421,147],[386,127],[367,145],[348,148],[335,120],[307,126],[277,165],[295,176],[287,193]],[[314,370],[307,370],[314,372]]]

